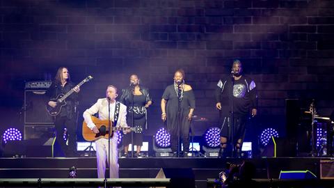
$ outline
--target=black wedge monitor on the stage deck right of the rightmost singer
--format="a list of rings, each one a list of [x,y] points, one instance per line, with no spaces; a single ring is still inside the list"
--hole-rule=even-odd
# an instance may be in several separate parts
[[[262,157],[296,157],[296,143],[285,138],[271,137]]]

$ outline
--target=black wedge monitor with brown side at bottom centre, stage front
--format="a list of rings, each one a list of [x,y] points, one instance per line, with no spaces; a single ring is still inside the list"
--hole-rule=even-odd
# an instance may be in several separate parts
[[[195,187],[195,175],[193,169],[160,169],[157,177],[155,178],[170,178],[170,185],[168,188],[182,187],[182,188],[194,188]]]

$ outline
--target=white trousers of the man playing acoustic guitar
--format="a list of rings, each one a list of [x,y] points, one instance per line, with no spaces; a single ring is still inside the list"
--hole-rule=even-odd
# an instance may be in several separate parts
[[[118,149],[117,149],[118,134],[115,134],[110,139],[110,173],[109,178],[118,178]],[[106,164],[108,161],[108,139],[98,139],[96,144],[96,159],[97,159],[97,178],[105,178],[104,173],[106,171]]]

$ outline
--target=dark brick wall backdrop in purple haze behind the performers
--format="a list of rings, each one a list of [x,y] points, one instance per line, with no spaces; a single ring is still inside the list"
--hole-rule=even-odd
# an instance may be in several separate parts
[[[164,88],[183,68],[196,114],[214,125],[216,82],[239,58],[259,91],[255,127],[284,130],[287,98],[315,98],[321,116],[334,109],[333,41],[333,1],[1,0],[1,106],[19,109],[24,81],[65,65],[74,81],[95,77],[81,88],[84,111],[134,72],[152,92],[157,127]]]

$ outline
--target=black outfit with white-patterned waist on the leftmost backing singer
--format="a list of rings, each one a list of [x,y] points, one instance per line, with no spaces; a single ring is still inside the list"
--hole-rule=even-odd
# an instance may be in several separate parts
[[[146,120],[146,109],[145,104],[148,101],[152,101],[148,88],[140,86],[139,91],[142,95],[133,95],[132,87],[122,90],[122,96],[120,97],[120,102],[127,106],[127,125],[130,127],[144,127],[147,123]],[[134,109],[132,109],[132,97],[134,99]],[[132,124],[132,113],[134,112],[134,125]],[[134,132],[134,145],[143,146],[143,133]],[[123,145],[127,146],[131,143],[131,134],[125,134],[123,137]]]

